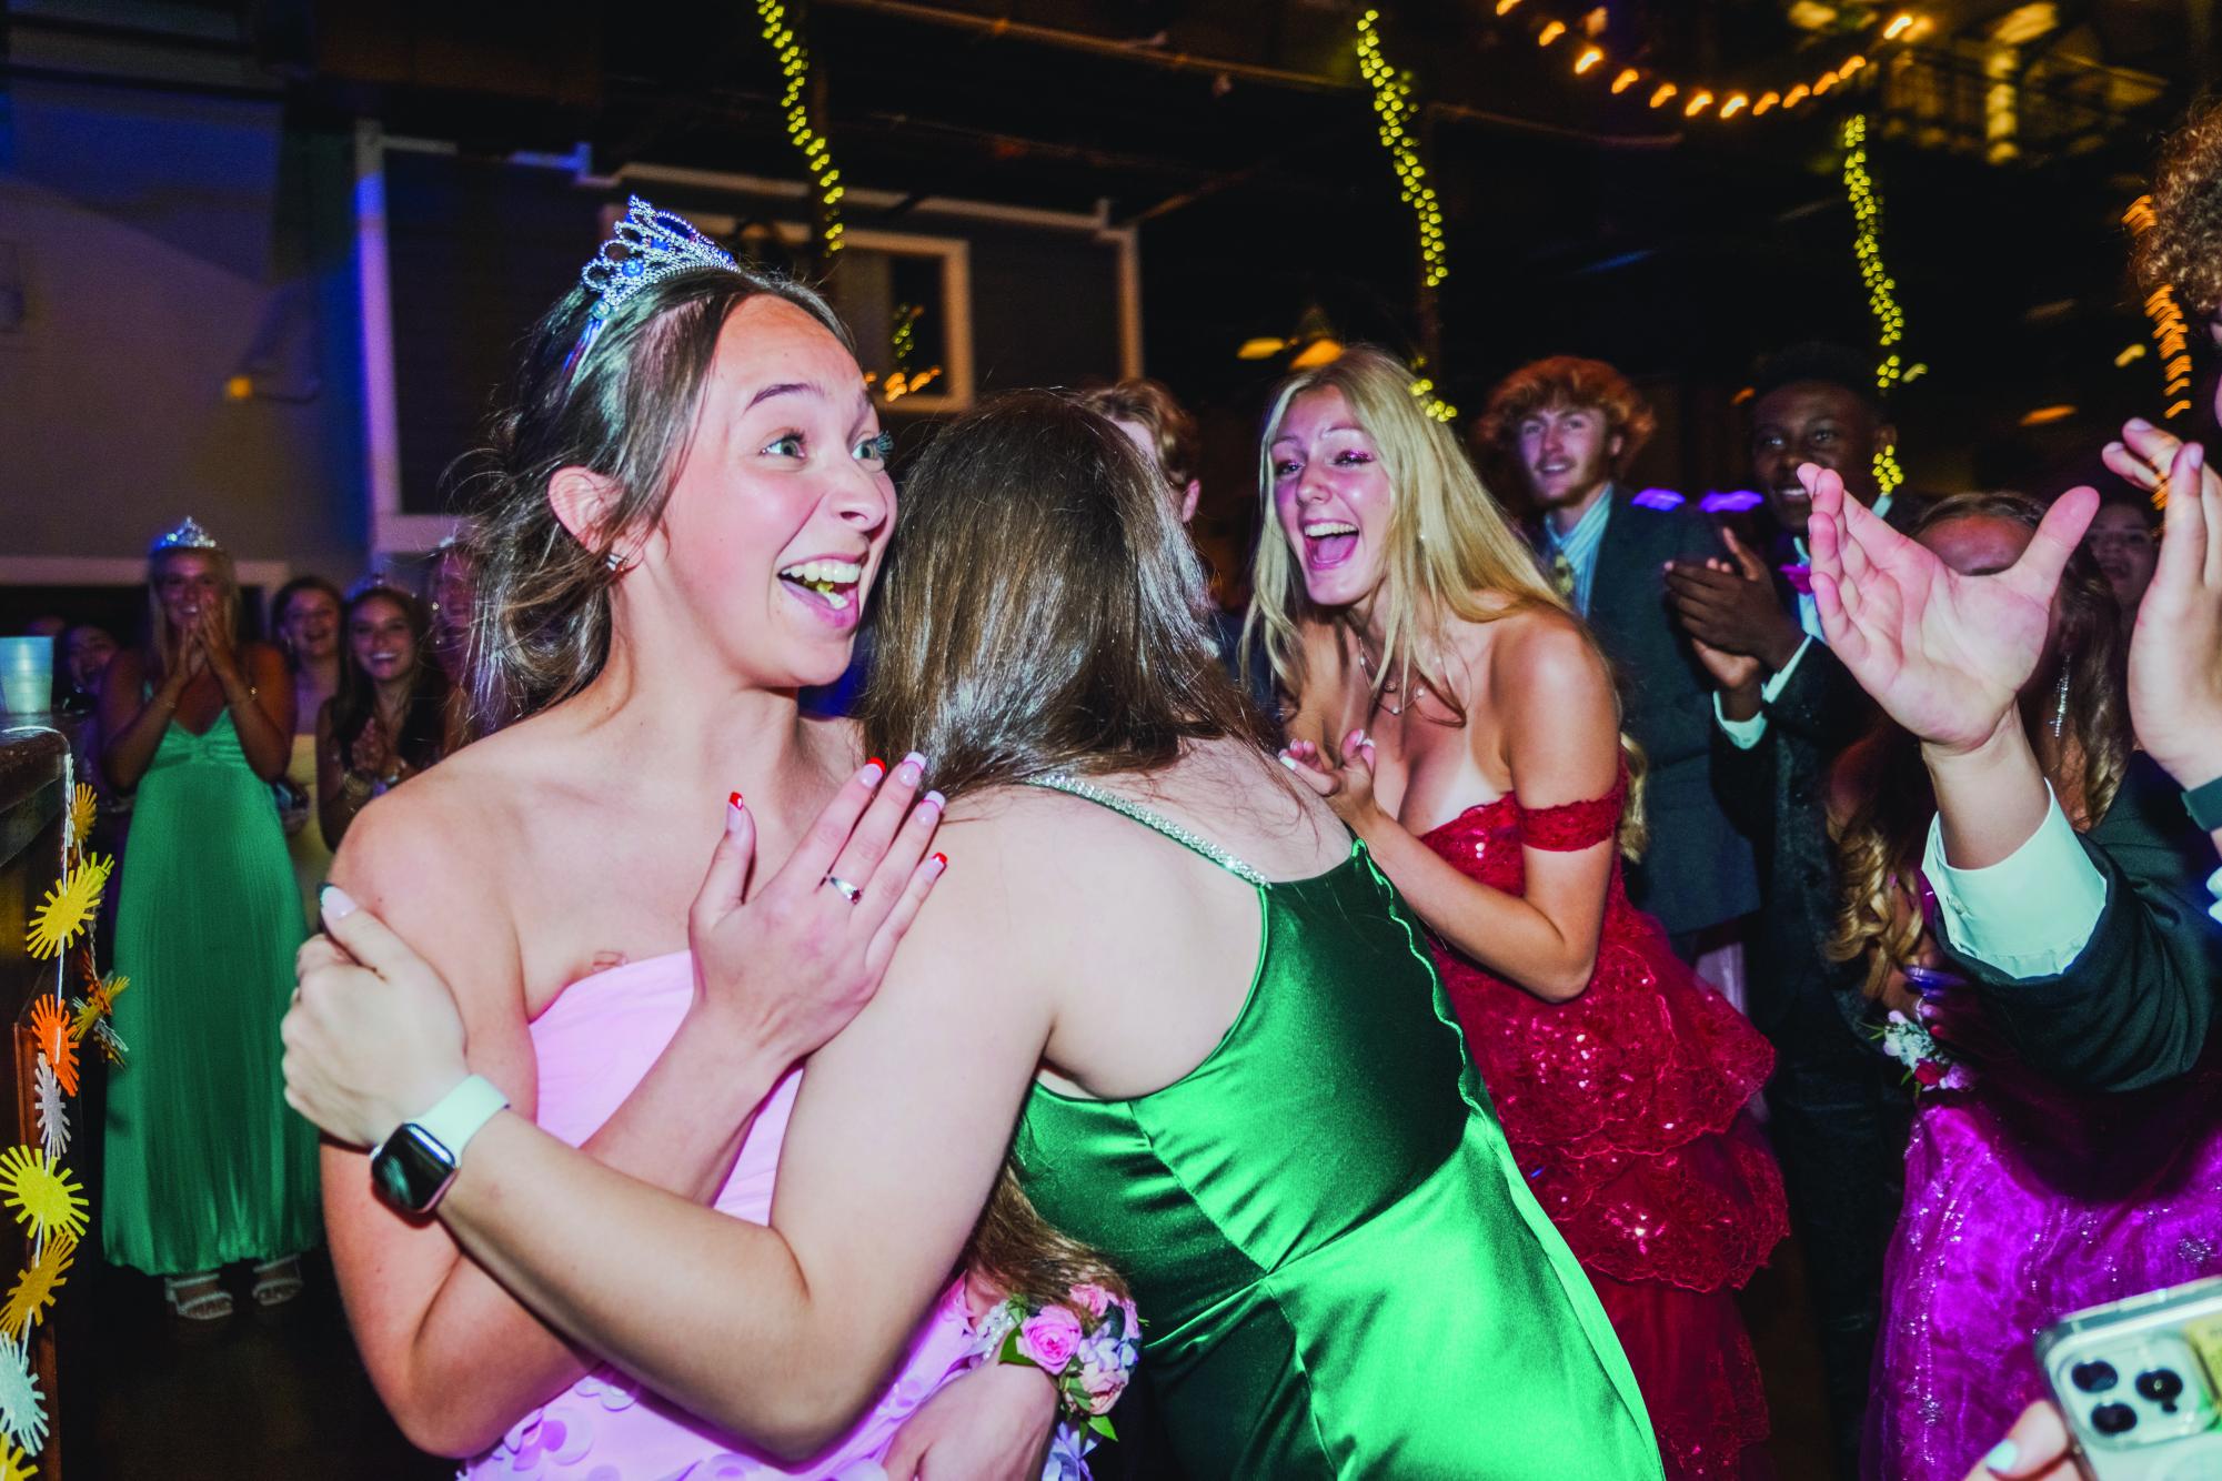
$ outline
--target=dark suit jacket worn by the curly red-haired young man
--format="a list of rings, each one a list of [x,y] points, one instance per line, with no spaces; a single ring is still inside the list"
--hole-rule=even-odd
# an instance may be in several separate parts
[[[1702,930],[1755,910],[1760,886],[1749,839],[1713,795],[1713,686],[1666,606],[1666,562],[1726,551],[1695,508],[1647,508],[1618,484],[1611,500],[1587,617],[1649,762],[1651,846],[1629,870],[1629,899],[1669,933]]]

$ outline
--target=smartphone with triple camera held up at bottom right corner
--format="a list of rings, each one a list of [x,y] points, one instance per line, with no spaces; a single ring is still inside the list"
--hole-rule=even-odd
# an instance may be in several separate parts
[[[2091,1481],[2222,1477],[2222,1277],[2064,1317],[2038,1363]]]

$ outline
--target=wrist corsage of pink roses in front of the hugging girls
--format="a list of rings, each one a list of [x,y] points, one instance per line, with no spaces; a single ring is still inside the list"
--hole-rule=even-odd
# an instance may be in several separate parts
[[[1053,1306],[1011,1297],[980,1319],[973,1352],[1049,1374],[1058,1388],[1058,1434],[1042,1481],[1084,1481],[1095,1437],[1118,1439],[1107,1414],[1142,1359],[1142,1317],[1133,1301],[1095,1283],[1073,1286]]]

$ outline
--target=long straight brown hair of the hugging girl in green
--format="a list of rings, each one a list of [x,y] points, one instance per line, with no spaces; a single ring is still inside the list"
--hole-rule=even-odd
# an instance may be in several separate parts
[[[873,755],[922,750],[949,797],[1049,773],[1149,773],[1264,728],[1220,668],[1204,571],[1158,471],[1109,420],[1015,391],[953,422],[902,488],[858,706]],[[1009,1163],[971,1263],[1011,1290],[1118,1286]]]

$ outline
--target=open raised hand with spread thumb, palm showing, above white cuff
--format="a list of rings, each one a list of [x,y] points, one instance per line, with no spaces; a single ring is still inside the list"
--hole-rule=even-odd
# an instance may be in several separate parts
[[[1960,575],[1846,497],[1829,469],[1804,464],[1798,482],[1813,495],[1806,540],[1829,651],[1926,748],[1978,750],[2035,673],[2053,591],[2098,493],[2064,493],[2013,566]]]

